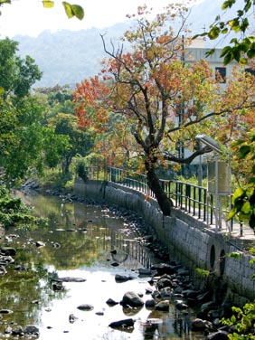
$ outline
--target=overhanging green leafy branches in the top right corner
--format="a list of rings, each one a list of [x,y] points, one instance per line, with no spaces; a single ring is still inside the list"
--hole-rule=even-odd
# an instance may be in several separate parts
[[[237,0],[225,0],[222,3],[222,11],[230,9],[237,3]],[[246,64],[249,59],[255,56],[255,37],[252,35],[254,32],[248,34],[249,30],[252,29],[250,14],[252,15],[252,11],[254,11],[254,4],[254,0],[242,0],[237,4],[239,8],[236,16],[224,20],[221,15],[217,15],[214,23],[210,26],[210,31],[198,34],[199,36],[207,36],[211,40],[231,32],[237,34],[237,38],[231,39],[230,45],[225,46],[222,50],[221,56],[224,58],[224,64],[233,60]],[[214,49],[211,50],[207,55],[213,54],[214,51]]]

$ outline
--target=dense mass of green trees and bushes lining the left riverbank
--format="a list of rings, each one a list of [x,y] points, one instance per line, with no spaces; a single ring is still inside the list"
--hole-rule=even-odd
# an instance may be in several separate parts
[[[0,223],[4,226],[34,221],[20,200],[10,198],[8,189],[49,173],[54,174],[51,185],[64,186],[73,176],[73,158],[90,154],[95,138],[78,127],[69,88],[32,90],[42,72],[31,57],[22,59],[17,51],[17,42],[0,41]]]

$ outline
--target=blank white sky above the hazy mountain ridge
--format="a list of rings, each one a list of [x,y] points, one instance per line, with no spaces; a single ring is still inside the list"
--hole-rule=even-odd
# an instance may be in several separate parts
[[[81,5],[85,15],[82,21],[69,19],[61,0],[53,8],[44,8],[42,0],[12,0],[0,7],[0,38],[15,35],[38,36],[44,30],[83,30],[104,28],[127,21],[127,14],[135,14],[138,5],[146,4],[159,13],[171,0],[67,0],[71,5]],[[183,0],[185,1],[185,0]],[[203,0],[195,0],[197,3]],[[180,2],[180,1],[179,1]]]

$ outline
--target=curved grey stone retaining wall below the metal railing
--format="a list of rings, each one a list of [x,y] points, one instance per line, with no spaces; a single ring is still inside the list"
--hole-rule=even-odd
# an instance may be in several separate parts
[[[234,259],[229,253],[237,251],[226,235],[215,233],[194,217],[173,209],[170,217],[161,213],[155,200],[147,201],[144,194],[119,184],[77,180],[75,193],[86,198],[102,199],[106,203],[138,213],[147,224],[147,229],[167,247],[175,260],[180,260],[189,269],[204,269],[214,273],[228,287],[231,301],[251,301],[255,297],[255,265],[251,256],[242,252]],[[172,259],[171,259],[172,260]]]

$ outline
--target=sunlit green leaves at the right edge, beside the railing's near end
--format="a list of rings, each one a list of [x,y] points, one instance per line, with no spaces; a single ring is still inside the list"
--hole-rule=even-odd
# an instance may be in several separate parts
[[[246,186],[236,189],[232,195],[232,209],[228,215],[228,220],[238,216],[240,222],[249,222],[250,228],[255,232],[255,135],[250,133],[250,142],[238,140],[232,147],[239,148],[240,161],[250,159],[250,179]]]

